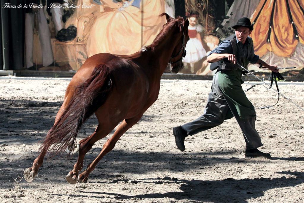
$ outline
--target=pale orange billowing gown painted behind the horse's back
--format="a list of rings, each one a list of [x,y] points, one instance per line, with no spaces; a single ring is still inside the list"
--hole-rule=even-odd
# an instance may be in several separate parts
[[[164,4],[163,0],[143,1],[143,15],[142,5],[110,9],[104,5],[105,12],[97,16],[88,36],[88,56],[103,52],[128,55],[151,44],[166,23],[165,17],[158,17],[165,11]]]

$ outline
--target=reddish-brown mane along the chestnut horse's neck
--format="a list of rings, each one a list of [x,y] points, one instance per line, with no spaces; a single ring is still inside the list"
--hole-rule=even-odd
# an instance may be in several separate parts
[[[159,17],[162,16],[168,16],[167,13],[162,13],[161,15],[159,15]],[[160,33],[158,33],[158,35],[155,37],[155,39],[153,40],[152,44],[148,45],[148,46],[144,46],[143,48],[141,48],[140,53],[143,51],[148,51],[148,50],[152,50],[154,51],[154,48],[161,42],[164,40],[164,38],[167,36],[167,34],[170,32],[170,30],[172,30],[174,28],[174,26],[177,26],[180,31],[182,31],[182,24],[184,23],[184,19],[181,16],[178,16],[176,19],[174,18],[169,18],[169,21],[164,24],[163,29],[161,30]]]

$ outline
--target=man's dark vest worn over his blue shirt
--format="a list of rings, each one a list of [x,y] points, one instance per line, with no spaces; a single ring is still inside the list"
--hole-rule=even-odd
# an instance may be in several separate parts
[[[250,42],[250,44],[248,45],[248,50],[250,50],[253,46],[253,42],[252,39],[250,37],[247,38]],[[232,53],[228,53],[228,54],[233,54],[236,56],[237,58],[237,63],[242,65],[243,67],[247,67],[247,65],[249,64],[249,61],[247,60],[248,56],[244,56],[244,52],[243,50],[241,50],[239,48],[239,46],[237,45],[237,39],[235,37],[235,34],[231,35],[230,37],[227,37],[225,40],[229,40],[230,44],[232,46]],[[223,41],[225,41],[223,40]],[[249,53],[249,51],[248,51]],[[242,70],[242,68],[237,65],[237,64],[233,64],[230,61],[228,61],[227,58],[224,58],[223,60],[211,63],[210,65],[210,70]]]

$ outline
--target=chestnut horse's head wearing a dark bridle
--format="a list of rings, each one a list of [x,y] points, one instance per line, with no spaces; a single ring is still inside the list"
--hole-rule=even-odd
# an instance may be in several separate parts
[[[174,43],[174,49],[173,53],[171,55],[169,64],[170,64],[170,71],[173,73],[178,73],[184,66],[182,59],[186,56],[186,44],[189,40],[188,35],[188,26],[189,21],[184,19],[182,17],[179,17],[177,19],[171,18],[168,14],[164,14],[166,16],[167,22],[174,22],[176,29],[174,33],[174,37],[176,37],[175,43]]]

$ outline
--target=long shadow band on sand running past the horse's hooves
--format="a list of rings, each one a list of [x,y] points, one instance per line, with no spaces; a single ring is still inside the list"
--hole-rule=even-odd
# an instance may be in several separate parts
[[[103,145],[105,140],[106,138],[97,142],[95,146],[93,146],[93,148],[87,153],[84,160],[84,168],[98,156],[102,149],[98,146]],[[3,144],[1,146],[3,149]],[[5,144],[4,146],[5,148],[9,148],[10,144]],[[142,152],[128,149],[116,150],[114,148],[98,163],[95,170],[90,174],[89,180],[91,183],[108,183],[101,181],[100,179],[108,179],[112,181],[113,177],[117,177],[117,174],[130,171],[137,174],[147,174],[156,170],[159,172],[163,171],[165,173],[166,171],[178,172],[199,170],[204,167],[210,168],[218,163],[256,163],[256,160],[250,159],[224,159],[215,157],[216,155],[223,155],[225,153],[233,155],[236,152],[215,151],[175,154],[174,152]],[[0,186],[1,183],[6,183],[5,185],[7,185],[9,182],[13,183],[13,180],[18,176],[23,177],[24,170],[32,166],[33,160],[38,155],[38,152],[27,152],[22,156],[22,158],[14,160],[15,155],[5,153],[6,161],[1,163],[2,182],[0,182]],[[70,158],[45,158],[43,166],[40,167],[38,177],[35,181],[40,182],[47,177],[48,181],[52,181],[54,183],[66,182],[64,179],[58,180],[58,178],[64,178],[65,175],[73,169],[73,165],[76,163],[76,161],[77,155]],[[25,180],[22,181],[25,182]],[[1,187],[5,186],[2,185]]]

